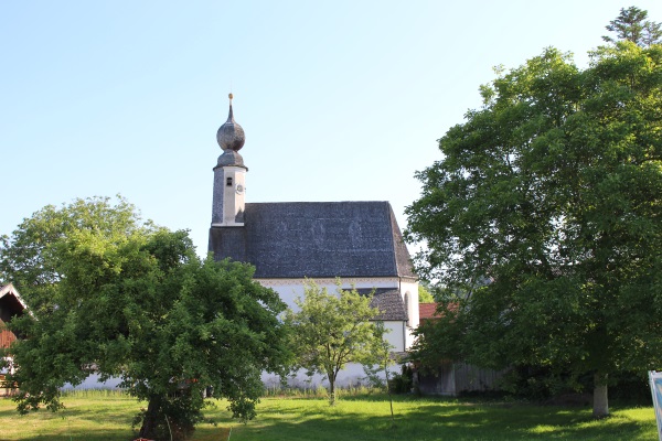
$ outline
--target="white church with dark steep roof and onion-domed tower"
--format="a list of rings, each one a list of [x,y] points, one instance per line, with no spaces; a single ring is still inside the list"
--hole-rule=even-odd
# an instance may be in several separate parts
[[[248,168],[239,154],[245,135],[229,115],[216,139],[210,251],[255,266],[255,279],[295,308],[306,279],[329,292],[374,290],[374,320],[391,330],[395,352],[413,343],[418,326],[418,279],[388,202],[246,202]]]

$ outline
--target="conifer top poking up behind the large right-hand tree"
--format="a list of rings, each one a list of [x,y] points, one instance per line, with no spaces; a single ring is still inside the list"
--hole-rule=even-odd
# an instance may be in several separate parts
[[[660,23],[645,20],[648,11],[637,7],[621,8],[619,15],[606,26],[608,31],[616,33],[616,39],[602,36],[610,43],[617,41],[631,41],[640,46],[662,43],[662,29]]]

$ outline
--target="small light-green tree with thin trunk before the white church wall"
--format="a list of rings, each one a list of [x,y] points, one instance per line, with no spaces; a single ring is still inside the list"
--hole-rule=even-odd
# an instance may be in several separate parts
[[[337,293],[306,281],[305,298],[295,303],[299,311],[288,310],[286,323],[292,327],[291,347],[296,368],[309,375],[321,374],[329,380],[329,404],[335,404],[335,379],[349,363],[382,364],[375,347],[383,344],[383,332],[371,322],[378,310],[371,308],[372,295],[355,289],[343,290],[337,281]]]

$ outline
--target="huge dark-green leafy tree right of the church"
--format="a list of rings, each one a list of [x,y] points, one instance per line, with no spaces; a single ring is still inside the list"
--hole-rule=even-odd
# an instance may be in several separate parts
[[[418,173],[409,240],[457,295],[417,355],[609,374],[662,366],[662,46],[542,55],[481,88],[484,106]]]

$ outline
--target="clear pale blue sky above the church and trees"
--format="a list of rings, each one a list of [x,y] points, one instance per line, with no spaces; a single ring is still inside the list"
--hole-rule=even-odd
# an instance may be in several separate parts
[[[404,228],[492,66],[585,66],[631,4],[662,21],[660,0],[2,1],[0,234],[120,193],[204,254],[231,87],[248,202],[391,201]]]

